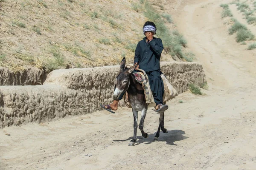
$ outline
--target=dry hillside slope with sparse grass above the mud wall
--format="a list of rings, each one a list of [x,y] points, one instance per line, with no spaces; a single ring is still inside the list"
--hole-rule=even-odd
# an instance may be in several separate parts
[[[163,40],[167,55],[184,61],[193,58],[184,51],[186,40],[173,29],[172,17],[161,2],[155,4],[157,10],[148,0],[97,4],[93,0],[0,2],[1,53],[8,58],[0,65],[13,71],[27,66],[49,72],[116,65],[123,56],[127,62],[133,62],[137,42],[144,37],[141,30],[146,20],[156,23],[156,36]]]

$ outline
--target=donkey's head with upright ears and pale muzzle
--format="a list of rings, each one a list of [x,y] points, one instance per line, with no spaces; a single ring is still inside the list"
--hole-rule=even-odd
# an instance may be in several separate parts
[[[130,74],[136,67],[137,65],[134,65],[131,68],[125,68],[125,57],[122,59],[119,74],[116,77],[116,88],[113,94],[114,100],[117,100],[120,94],[128,90],[130,85]]]

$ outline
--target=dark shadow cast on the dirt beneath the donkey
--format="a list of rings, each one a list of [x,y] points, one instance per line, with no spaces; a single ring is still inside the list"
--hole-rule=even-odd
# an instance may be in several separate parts
[[[137,141],[135,142],[134,145],[137,144],[151,144],[152,142],[154,142],[154,136],[156,135],[157,132],[155,132],[154,134],[148,134],[148,138],[143,138],[143,136],[137,136]],[[185,132],[183,130],[170,130],[168,131],[168,133],[160,133],[160,136],[158,138],[158,141],[165,141],[166,144],[170,144],[170,145],[177,145],[174,144],[174,142],[176,141],[181,141],[184,139],[187,139],[189,137],[187,136],[183,136],[185,135]],[[133,136],[129,137],[128,139],[120,139],[120,140],[113,140],[114,142],[124,142],[124,141],[129,141],[133,139]]]

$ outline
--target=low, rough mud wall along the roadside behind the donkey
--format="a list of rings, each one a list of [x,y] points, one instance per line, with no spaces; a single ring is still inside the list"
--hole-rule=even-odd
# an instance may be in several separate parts
[[[160,65],[178,93],[187,91],[189,83],[201,86],[206,82],[203,67],[198,63],[161,62]],[[99,103],[113,100],[118,73],[118,65],[72,68],[52,71],[44,85],[0,86],[0,128],[101,110]]]

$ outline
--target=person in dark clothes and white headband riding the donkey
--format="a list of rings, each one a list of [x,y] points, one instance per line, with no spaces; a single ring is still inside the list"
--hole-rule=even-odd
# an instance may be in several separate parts
[[[164,84],[160,76],[162,74],[160,71],[160,58],[163,51],[163,43],[160,38],[154,37],[156,30],[157,27],[153,22],[145,22],[143,26],[145,37],[137,44],[134,65],[137,65],[135,70],[140,68],[147,74],[154,102],[156,103],[154,108],[157,112],[163,112],[168,109],[168,105],[163,104]],[[101,105],[102,108],[114,113],[113,111],[117,110],[118,102],[123,98],[124,94],[125,92],[119,96],[119,99],[113,100],[109,105]]]

